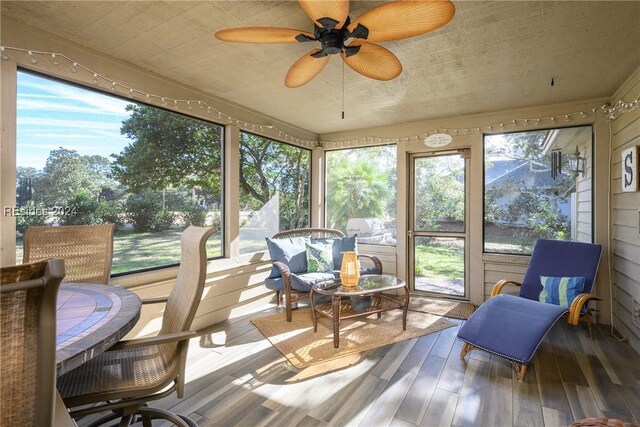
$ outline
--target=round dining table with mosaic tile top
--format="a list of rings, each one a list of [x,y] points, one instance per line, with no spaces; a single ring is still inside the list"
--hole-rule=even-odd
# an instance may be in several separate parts
[[[121,286],[63,283],[56,304],[58,376],[120,341],[140,318],[141,305]]]

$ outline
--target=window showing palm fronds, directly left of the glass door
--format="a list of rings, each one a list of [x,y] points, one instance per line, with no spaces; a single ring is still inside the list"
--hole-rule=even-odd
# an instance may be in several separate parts
[[[395,145],[327,151],[325,194],[327,227],[396,244]]]

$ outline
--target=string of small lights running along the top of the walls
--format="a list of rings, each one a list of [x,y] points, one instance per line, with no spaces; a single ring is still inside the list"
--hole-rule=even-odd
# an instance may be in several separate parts
[[[206,112],[207,114],[215,114],[217,115],[219,120],[224,120],[227,121],[229,123],[234,123],[235,125],[237,125],[238,127],[240,127],[241,129],[244,130],[253,130],[255,131],[256,128],[259,129],[260,131],[264,131],[269,130],[271,132],[275,132],[279,138],[285,140],[286,142],[294,142],[296,144],[299,145],[304,145],[310,148],[314,148],[314,147],[325,147],[325,148],[337,148],[337,147],[343,147],[343,146],[352,146],[352,145],[359,145],[359,144],[365,144],[365,143],[381,143],[381,144],[394,144],[394,143],[399,143],[399,142],[409,142],[409,141],[418,141],[418,140],[423,140],[424,138],[426,138],[429,135],[432,134],[436,134],[436,133],[448,133],[451,134],[453,133],[454,135],[471,135],[474,133],[482,133],[482,132],[490,132],[495,130],[496,128],[499,129],[504,129],[505,126],[517,126],[518,124],[523,124],[525,127],[529,126],[531,123],[533,123],[535,126],[542,126],[545,122],[551,122],[551,124],[555,124],[556,120],[560,120],[560,119],[564,119],[565,121],[569,122],[571,121],[571,119],[573,117],[579,117],[581,119],[586,119],[588,117],[589,113],[592,114],[596,114],[598,112],[598,110],[602,110],[603,112],[603,116],[608,120],[608,121],[613,121],[616,120],[618,117],[620,117],[620,115],[625,114],[625,113],[630,113],[638,108],[640,108],[640,96],[638,96],[636,99],[634,99],[633,101],[630,102],[626,102],[623,100],[619,100],[618,102],[616,102],[614,105],[609,105],[609,104],[604,104],[600,107],[595,107],[595,108],[591,108],[589,110],[585,110],[585,111],[577,111],[574,113],[569,113],[569,114],[562,114],[562,115],[557,115],[557,116],[548,116],[548,117],[537,117],[537,118],[532,118],[532,117],[528,117],[528,118],[517,118],[517,119],[512,119],[512,120],[507,120],[504,122],[499,122],[499,123],[490,123],[481,127],[473,127],[473,128],[446,128],[446,129],[435,129],[435,130],[430,130],[421,134],[417,134],[417,135],[410,135],[410,136],[403,136],[403,137],[395,137],[395,138],[382,138],[382,137],[374,137],[374,136],[366,136],[366,137],[361,137],[361,138],[356,138],[356,139],[352,139],[352,140],[347,140],[347,141],[311,141],[311,140],[304,140],[304,139],[300,139],[300,138],[296,138],[292,135],[289,135],[288,133],[284,132],[282,129],[276,127],[275,125],[272,124],[256,124],[256,123],[249,123],[249,122],[245,122],[239,119],[236,119],[235,117],[232,117],[226,113],[223,113],[222,111],[216,109],[214,106],[208,104],[205,101],[202,100],[188,100],[188,99],[174,99],[174,98],[169,98],[169,97],[163,97],[160,95],[155,95],[155,94],[151,94],[151,93],[146,93],[143,92],[141,90],[132,88],[130,86],[127,86],[125,84],[116,82],[112,79],[110,79],[109,77],[102,75],[94,70],[92,70],[91,68],[82,65],[80,63],[78,63],[77,61],[74,61],[73,59],[69,58],[68,56],[61,54],[61,53],[55,53],[55,52],[43,52],[43,51],[35,51],[35,50],[27,50],[27,49],[22,49],[22,48],[16,48],[16,47],[10,47],[10,46],[0,46],[0,57],[3,60],[8,60],[9,57],[7,56],[7,53],[11,51],[14,53],[18,53],[18,54],[27,54],[28,58],[29,58],[29,62],[31,64],[36,64],[37,63],[37,59],[36,56],[37,55],[45,55],[48,56],[51,59],[51,63],[53,65],[58,65],[59,64],[59,59],[63,59],[65,61],[68,61],[68,63],[71,64],[71,72],[76,73],[78,71],[78,68],[81,68],[82,70],[86,71],[89,75],[92,75],[92,83],[94,85],[98,85],[100,79],[106,81],[107,83],[111,83],[111,91],[115,92],[117,90],[118,87],[122,88],[122,90],[126,91],[128,93],[129,98],[133,98],[134,94],[137,92],[138,94],[140,94],[141,96],[144,95],[144,98],[146,99],[147,102],[160,102],[162,104],[162,106],[167,107],[169,105],[169,102],[172,103],[172,107],[175,109],[180,109],[181,106],[186,106],[187,109],[191,110],[192,109],[192,103],[197,103],[198,107],[201,110],[205,110],[206,108]]]

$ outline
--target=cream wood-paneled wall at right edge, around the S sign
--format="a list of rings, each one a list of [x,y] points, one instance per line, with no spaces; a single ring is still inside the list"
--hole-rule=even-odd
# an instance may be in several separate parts
[[[640,96],[640,69],[616,92],[618,100]],[[633,320],[633,300],[640,303],[640,192],[622,192],[622,151],[640,145],[640,109],[611,124],[611,264],[614,326],[640,352],[640,320]]]

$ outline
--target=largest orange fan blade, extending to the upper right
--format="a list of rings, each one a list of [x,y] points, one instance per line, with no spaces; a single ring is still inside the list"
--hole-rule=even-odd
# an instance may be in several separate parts
[[[450,1],[394,1],[364,13],[349,25],[349,31],[361,24],[369,30],[369,42],[399,40],[443,26],[455,10]]]

